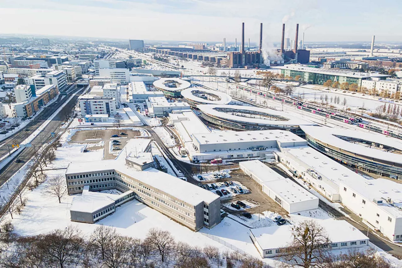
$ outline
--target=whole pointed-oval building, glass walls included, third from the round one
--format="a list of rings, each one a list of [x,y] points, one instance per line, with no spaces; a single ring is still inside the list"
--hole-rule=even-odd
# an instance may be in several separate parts
[[[202,104],[197,108],[208,122],[233,130],[295,129],[314,125],[282,111],[254,106]]]

